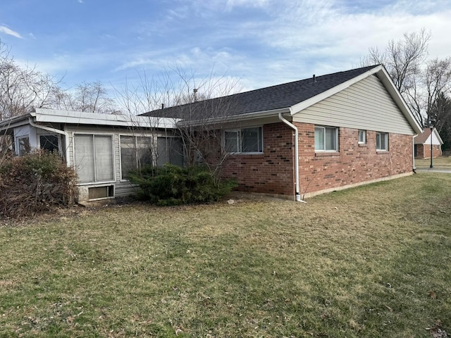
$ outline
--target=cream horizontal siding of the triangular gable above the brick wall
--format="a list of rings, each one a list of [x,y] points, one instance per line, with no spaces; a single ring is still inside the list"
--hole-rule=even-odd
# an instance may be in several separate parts
[[[376,75],[293,115],[293,121],[378,132],[414,134],[400,108]]]

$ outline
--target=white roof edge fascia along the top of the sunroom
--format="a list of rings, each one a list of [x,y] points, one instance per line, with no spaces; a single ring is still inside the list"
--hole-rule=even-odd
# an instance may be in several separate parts
[[[174,128],[178,120],[146,116],[85,113],[82,111],[56,111],[36,109],[33,114],[38,123],[67,123],[75,125],[104,125],[115,127]]]

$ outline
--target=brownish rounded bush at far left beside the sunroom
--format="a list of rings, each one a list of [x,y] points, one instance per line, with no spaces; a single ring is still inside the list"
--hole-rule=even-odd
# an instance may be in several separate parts
[[[32,151],[0,165],[0,215],[30,216],[73,201],[76,174],[58,153]]]

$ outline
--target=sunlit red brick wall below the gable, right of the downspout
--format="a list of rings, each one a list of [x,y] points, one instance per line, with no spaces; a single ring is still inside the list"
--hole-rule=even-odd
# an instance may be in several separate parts
[[[376,152],[376,132],[366,131],[360,145],[358,130],[340,127],[339,151],[315,154],[314,125],[296,125],[302,195],[412,171],[412,136],[389,134],[388,151]]]

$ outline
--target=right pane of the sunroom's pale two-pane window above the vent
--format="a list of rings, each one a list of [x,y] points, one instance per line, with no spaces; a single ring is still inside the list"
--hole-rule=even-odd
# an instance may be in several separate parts
[[[94,135],[96,156],[96,181],[114,180],[113,138],[109,135]]]

